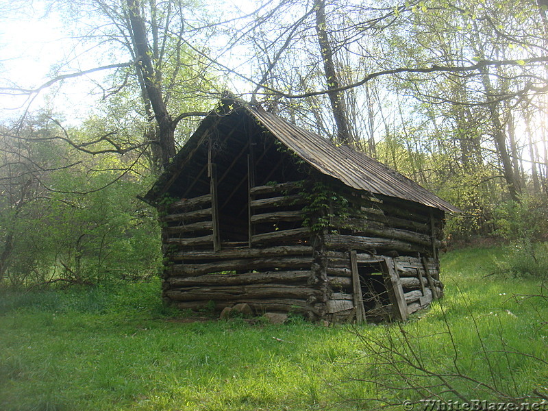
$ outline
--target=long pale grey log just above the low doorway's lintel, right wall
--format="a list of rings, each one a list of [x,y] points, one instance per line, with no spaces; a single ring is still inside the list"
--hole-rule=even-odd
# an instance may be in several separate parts
[[[344,236],[340,234],[328,234],[325,236],[325,245],[332,249],[389,249],[405,252],[423,252],[421,245],[411,244],[400,240],[388,240],[386,238]]]

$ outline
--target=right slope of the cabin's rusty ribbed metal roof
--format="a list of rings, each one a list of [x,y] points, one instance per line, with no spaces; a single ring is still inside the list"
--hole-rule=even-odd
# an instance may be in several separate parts
[[[460,212],[447,201],[388,166],[348,146],[336,146],[326,138],[308,132],[253,105],[246,110],[278,140],[295,151],[314,169],[334,177],[356,190],[397,197],[449,212]]]

